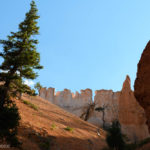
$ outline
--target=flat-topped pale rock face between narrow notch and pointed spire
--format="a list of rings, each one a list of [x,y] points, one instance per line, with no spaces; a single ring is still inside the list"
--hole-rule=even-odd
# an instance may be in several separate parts
[[[118,119],[119,95],[120,92],[113,92],[112,90],[95,91],[95,109],[100,108],[101,110],[94,110],[88,122],[103,127],[111,125],[113,120]]]

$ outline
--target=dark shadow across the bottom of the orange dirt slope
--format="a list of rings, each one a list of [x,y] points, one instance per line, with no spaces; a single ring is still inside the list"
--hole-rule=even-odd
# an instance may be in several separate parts
[[[67,132],[67,131],[66,131]],[[69,132],[69,131],[68,131]],[[55,137],[44,129],[19,127],[19,140],[23,150],[101,150],[105,146],[100,138],[79,139],[74,137]]]

